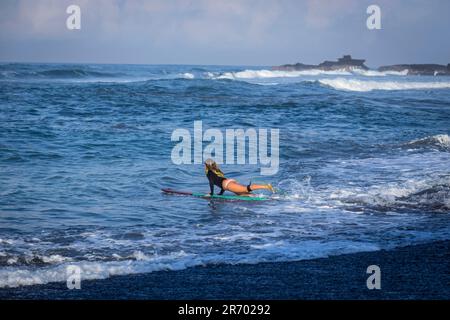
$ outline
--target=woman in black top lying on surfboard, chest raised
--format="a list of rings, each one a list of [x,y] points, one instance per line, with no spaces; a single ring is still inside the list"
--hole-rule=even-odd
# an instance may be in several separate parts
[[[214,185],[218,186],[221,190],[219,195],[222,195],[225,191],[231,191],[239,196],[250,196],[254,190],[266,189],[271,192],[275,192],[271,184],[249,184],[243,186],[234,179],[228,179],[223,172],[217,166],[217,163],[212,159],[205,161],[205,173],[209,180],[209,188],[211,189],[210,195],[214,195]]]

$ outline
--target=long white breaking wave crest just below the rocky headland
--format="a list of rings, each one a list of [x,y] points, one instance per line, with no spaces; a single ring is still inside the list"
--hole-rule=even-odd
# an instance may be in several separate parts
[[[372,90],[450,89],[450,82],[365,81],[357,79],[321,79],[321,84],[336,90],[368,92]]]

